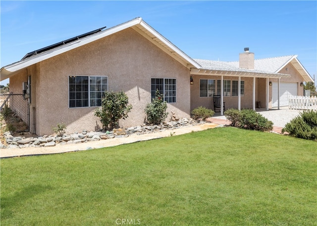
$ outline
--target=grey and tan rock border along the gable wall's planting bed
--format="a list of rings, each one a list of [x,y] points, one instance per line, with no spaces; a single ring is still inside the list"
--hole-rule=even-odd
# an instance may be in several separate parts
[[[74,133],[63,136],[39,136],[39,137],[28,137],[23,136],[12,136],[10,132],[3,134],[6,144],[1,144],[0,148],[24,148],[24,147],[50,147],[55,145],[66,145],[73,143],[86,143],[89,141],[96,141],[100,139],[111,139],[114,137],[127,137],[132,135],[152,134],[158,133],[165,130],[175,130],[182,127],[191,127],[199,124],[204,124],[205,121],[193,120],[193,119],[182,119],[179,121],[164,122],[160,125],[141,125],[136,127],[129,127],[125,129],[114,129],[109,132],[88,132],[87,130],[81,133]]]

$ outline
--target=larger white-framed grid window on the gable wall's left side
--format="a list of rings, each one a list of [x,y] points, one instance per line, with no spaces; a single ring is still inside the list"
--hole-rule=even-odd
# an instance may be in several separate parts
[[[108,90],[107,76],[69,76],[69,107],[101,106]]]

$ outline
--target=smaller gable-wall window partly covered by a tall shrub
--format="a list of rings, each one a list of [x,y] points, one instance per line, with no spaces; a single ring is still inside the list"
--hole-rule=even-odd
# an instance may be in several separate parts
[[[176,79],[151,79],[151,99],[155,98],[156,90],[164,95],[167,103],[176,103]]]

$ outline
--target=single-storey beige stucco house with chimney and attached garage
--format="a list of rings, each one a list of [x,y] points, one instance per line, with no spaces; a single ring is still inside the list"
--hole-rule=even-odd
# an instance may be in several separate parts
[[[254,60],[246,49],[239,62],[194,60],[142,18],[30,52],[1,68],[1,80],[7,78],[13,94],[24,93],[24,110],[14,100],[11,109],[27,111],[23,120],[37,135],[52,134],[61,122],[67,133],[98,130],[94,111],[106,90],[128,95],[133,108],[120,126],[130,127],[145,122],[157,89],[169,113],[189,118],[195,107],[212,109],[216,93],[224,93],[226,108],[255,108],[261,101],[268,109],[284,104],[284,90],[303,94],[300,84],[312,81],[295,55]]]

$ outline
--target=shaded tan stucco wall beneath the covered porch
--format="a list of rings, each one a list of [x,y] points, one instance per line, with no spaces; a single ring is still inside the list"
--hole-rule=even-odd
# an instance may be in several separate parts
[[[221,80],[221,76],[204,76],[204,75],[193,75],[194,84],[191,85],[191,110],[196,107],[204,106],[213,110],[213,98],[212,97],[200,97],[200,80],[201,79],[214,79]],[[232,81],[238,80],[238,77],[224,76],[223,80]],[[241,109],[252,108],[252,87],[253,78],[241,77],[241,81],[244,81],[244,96],[241,96]],[[238,108],[238,96],[224,96],[223,101],[225,102],[225,109]]]

